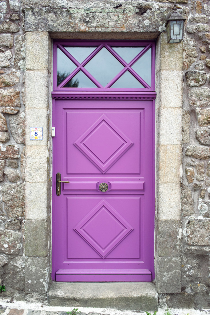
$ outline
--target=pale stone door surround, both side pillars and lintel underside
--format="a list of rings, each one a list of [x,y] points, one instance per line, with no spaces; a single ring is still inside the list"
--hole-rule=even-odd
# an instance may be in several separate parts
[[[146,28],[148,28],[146,26]],[[31,241],[37,232],[31,231],[31,236],[25,238],[25,247],[33,248],[33,254],[25,253],[26,260],[26,293],[46,293],[51,278],[52,250],[52,52],[53,40],[75,38],[83,40],[92,38],[138,38],[154,39],[156,41],[156,228],[155,228],[155,270],[156,285],[160,293],[180,293],[180,231],[181,231],[181,189],[182,178],[182,102],[183,102],[183,41],[173,46],[167,44],[166,33],[138,29],[135,32],[125,28],[122,32],[99,30],[87,31],[40,31],[34,25],[33,31],[26,31],[26,225],[33,220],[43,234],[41,243]],[[101,35],[102,34],[102,35]],[[159,36],[158,36],[159,34]],[[42,39],[42,40],[40,40]],[[176,48],[176,49],[175,49]],[[176,50],[176,58],[172,50]],[[34,65],[36,56],[36,65]],[[177,61],[178,60],[178,61]],[[31,67],[31,65],[34,65]],[[174,119],[174,117],[176,117]],[[30,140],[29,128],[43,127],[43,140]],[[170,128],[170,136],[168,130]],[[172,151],[173,149],[173,151]],[[173,154],[172,154],[173,153]],[[34,165],[37,165],[35,168]],[[47,167],[46,167],[47,165]],[[36,188],[36,189],[35,189]],[[39,194],[39,209],[35,212]],[[41,224],[40,224],[41,223]],[[170,238],[171,247],[165,250],[165,242],[171,226],[176,226],[174,236]],[[161,227],[162,233],[159,233]],[[178,232],[177,232],[178,231]],[[41,249],[41,250],[40,250]],[[40,266],[40,267],[37,267]],[[38,269],[37,269],[38,268]],[[28,281],[40,278],[40,283]],[[173,272],[174,281],[164,277]],[[35,283],[36,282],[36,283]]]

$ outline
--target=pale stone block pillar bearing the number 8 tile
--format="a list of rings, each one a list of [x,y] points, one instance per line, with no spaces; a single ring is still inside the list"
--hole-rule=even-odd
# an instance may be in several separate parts
[[[26,293],[46,293],[50,279],[50,56],[48,32],[26,32]],[[30,140],[30,127],[43,127],[43,140]]]

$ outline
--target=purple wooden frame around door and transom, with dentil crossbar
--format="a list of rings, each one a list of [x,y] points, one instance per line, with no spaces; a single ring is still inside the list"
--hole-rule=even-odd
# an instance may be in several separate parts
[[[54,41],[53,46],[53,60],[56,58],[56,45],[57,43],[68,43],[69,40],[56,40]],[[76,44],[77,41],[72,40],[72,43]],[[81,41],[80,41],[81,42]],[[99,40],[96,41],[84,41],[87,43],[98,43]],[[101,41],[102,42],[102,41]],[[105,41],[103,41],[105,42]],[[116,43],[116,41],[106,41],[107,43]],[[149,42],[152,43],[152,64],[151,64],[151,82],[152,87],[155,87],[155,41],[117,41],[117,43],[127,43],[131,44],[133,42],[141,43],[141,45],[147,44]],[[57,81],[57,67],[56,62],[53,64],[53,79],[54,82]],[[152,79],[153,78],[153,79]],[[152,88],[151,88],[152,89]],[[109,100],[109,99],[120,99],[120,100],[153,100],[153,115],[152,115],[152,124],[153,124],[153,140],[152,140],[152,154],[153,154],[153,170],[152,170],[152,248],[154,249],[154,260],[152,261],[152,281],[155,279],[155,247],[154,247],[154,234],[155,234],[155,99],[156,99],[156,92],[152,91],[151,89],[81,89],[81,88],[68,88],[65,91],[61,89],[55,88],[52,94],[52,127],[55,127],[55,100],[91,100],[91,99],[99,99],[99,100]],[[113,91],[114,90],[114,91]],[[56,133],[56,130],[55,130]],[[55,150],[55,137],[52,138],[52,156],[54,157],[54,150]],[[55,181],[55,160],[53,158],[52,162],[52,172],[53,172],[53,183],[52,183],[52,274],[51,278],[55,281],[55,196],[56,196],[56,181]]]

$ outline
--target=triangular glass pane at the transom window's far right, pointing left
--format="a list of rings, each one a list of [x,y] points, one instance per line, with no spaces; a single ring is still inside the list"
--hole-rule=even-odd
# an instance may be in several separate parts
[[[149,86],[151,86],[151,51],[151,48],[148,49],[131,67]]]

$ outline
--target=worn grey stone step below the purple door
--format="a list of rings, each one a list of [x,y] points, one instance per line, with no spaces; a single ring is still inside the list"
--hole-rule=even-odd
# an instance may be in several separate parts
[[[156,311],[158,295],[150,282],[53,282],[48,305]]]

